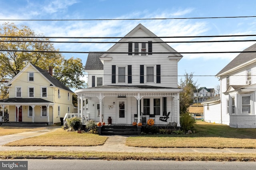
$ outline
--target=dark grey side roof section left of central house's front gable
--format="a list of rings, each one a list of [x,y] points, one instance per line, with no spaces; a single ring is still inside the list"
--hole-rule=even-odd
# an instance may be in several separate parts
[[[103,70],[103,63],[100,61],[102,55],[102,53],[89,53],[85,64],[85,70]]]

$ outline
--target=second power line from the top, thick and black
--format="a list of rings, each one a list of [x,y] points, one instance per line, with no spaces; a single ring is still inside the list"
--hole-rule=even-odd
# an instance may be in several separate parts
[[[0,38],[47,38],[47,39],[131,39],[131,38],[215,38],[215,37],[255,37],[249,35],[202,35],[202,36],[159,36],[159,37],[34,37],[34,36],[0,36]]]

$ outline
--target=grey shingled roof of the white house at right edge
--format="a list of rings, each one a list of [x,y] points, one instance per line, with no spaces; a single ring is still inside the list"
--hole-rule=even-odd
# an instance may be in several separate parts
[[[248,47],[244,51],[255,51],[256,50],[256,44]],[[216,74],[216,76],[219,76],[220,74],[223,74],[224,72],[227,72],[231,69],[240,68],[241,66],[252,63],[252,60],[256,60],[256,54],[255,53],[240,53],[236,58],[234,58],[228,65],[226,65],[220,72]]]

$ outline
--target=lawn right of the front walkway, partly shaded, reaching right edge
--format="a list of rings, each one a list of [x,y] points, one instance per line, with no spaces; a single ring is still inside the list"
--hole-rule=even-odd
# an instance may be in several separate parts
[[[196,121],[194,134],[129,137],[126,145],[153,148],[256,148],[256,129],[236,129],[227,125]]]

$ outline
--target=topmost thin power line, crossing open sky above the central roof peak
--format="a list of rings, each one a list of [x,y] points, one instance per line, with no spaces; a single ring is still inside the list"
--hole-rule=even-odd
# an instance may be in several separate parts
[[[119,20],[189,20],[189,19],[220,19],[220,18],[255,18],[256,16],[227,16],[227,17],[187,17],[187,18],[116,18],[116,19],[55,19],[55,20],[15,20],[1,19],[0,21],[119,21]]]

